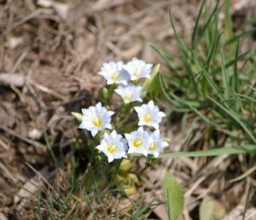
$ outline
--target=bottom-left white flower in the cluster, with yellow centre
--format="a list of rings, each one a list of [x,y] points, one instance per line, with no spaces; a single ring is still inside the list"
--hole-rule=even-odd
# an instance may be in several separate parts
[[[112,162],[113,159],[126,158],[127,145],[125,139],[121,135],[118,135],[115,130],[110,135],[104,134],[102,142],[96,147],[102,151],[108,157],[108,163]]]

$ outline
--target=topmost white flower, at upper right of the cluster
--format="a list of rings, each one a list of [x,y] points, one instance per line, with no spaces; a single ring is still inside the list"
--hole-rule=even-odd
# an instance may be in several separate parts
[[[137,80],[139,78],[150,78],[152,67],[152,64],[133,58],[124,66],[124,69],[130,74],[131,80]]]

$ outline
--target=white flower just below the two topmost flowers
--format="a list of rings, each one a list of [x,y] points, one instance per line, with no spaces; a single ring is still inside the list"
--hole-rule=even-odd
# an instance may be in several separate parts
[[[131,101],[143,101],[141,98],[142,95],[142,86],[135,86],[134,84],[128,84],[125,86],[119,86],[114,90],[119,96],[122,97],[125,103]]]

